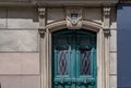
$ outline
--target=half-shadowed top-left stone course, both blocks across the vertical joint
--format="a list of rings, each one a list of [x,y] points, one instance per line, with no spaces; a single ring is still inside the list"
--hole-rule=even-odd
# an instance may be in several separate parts
[[[1,8],[0,28],[38,28],[36,8]]]

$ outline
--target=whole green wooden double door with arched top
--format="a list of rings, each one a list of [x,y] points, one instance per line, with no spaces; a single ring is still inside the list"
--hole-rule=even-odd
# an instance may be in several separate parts
[[[52,33],[52,87],[96,88],[96,33]]]

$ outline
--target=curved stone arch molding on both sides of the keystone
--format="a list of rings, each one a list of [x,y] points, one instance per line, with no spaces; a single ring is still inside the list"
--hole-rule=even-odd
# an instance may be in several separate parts
[[[48,24],[46,28],[48,28],[49,32],[67,28],[67,21],[59,21],[59,22]],[[102,24],[93,21],[82,21],[82,28],[93,30],[93,32],[98,32],[103,27],[102,27]]]

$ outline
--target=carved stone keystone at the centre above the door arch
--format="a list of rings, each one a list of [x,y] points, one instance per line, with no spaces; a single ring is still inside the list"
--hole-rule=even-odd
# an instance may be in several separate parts
[[[82,8],[66,8],[67,27],[79,29],[82,27]]]

